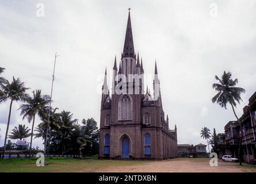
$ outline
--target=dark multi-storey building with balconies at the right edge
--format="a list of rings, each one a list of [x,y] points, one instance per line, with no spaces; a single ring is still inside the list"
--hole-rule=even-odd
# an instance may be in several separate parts
[[[256,162],[256,91],[249,98],[249,103],[243,108],[243,114],[238,121],[229,121],[224,127],[225,133],[219,133],[219,158],[222,155],[232,155],[239,158],[239,143],[242,139],[242,158],[245,162]]]

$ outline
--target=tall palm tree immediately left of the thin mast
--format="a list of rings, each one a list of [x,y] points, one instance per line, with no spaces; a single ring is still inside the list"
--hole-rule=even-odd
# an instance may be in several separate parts
[[[31,156],[32,152],[32,140],[33,140],[33,131],[34,131],[34,124],[35,124],[35,116],[38,114],[40,118],[46,116],[44,109],[50,103],[50,96],[49,95],[42,95],[41,90],[32,91],[33,95],[27,96],[25,98],[25,104],[22,104],[19,109],[21,109],[21,115],[24,118],[28,119],[28,122],[32,121],[32,128],[31,128],[31,140],[30,140],[30,148],[29,148],[29,156]]]

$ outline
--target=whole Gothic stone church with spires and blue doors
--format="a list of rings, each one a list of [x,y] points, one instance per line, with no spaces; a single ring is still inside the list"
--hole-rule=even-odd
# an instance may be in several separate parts
[[[144,62],[145,64],[145,62]],[[154,93],[144,91],[142,58],[133,47],[130,11],[124,49],[117,69],[114,59],[112,92],[107,72],[102,86],[99,158],[153,159],[177,157],[177,128],[169,129],[162,108],[157,64]]]

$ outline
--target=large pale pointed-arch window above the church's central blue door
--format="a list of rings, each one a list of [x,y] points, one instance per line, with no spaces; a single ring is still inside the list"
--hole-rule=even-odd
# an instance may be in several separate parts
[[[132,98],[128,94],[122,95],[119,99],[118,120],[119,121],[132,120]]]

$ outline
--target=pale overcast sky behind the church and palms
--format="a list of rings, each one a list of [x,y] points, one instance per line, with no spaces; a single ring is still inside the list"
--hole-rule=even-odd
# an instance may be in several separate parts
[[[43,3],[44,17],[36,16],[37,3]],[[215,5],[218,14],[213,13]],[[121,59],[128,7],[135,51],[143,57],[146,75],[154,74],[157,59],[164,111],[169,127],[177,125],[178,143],[206,144],[200,137],[202,127],[221,133],[235,120],[230,106],[225,110],[212,104],[214,76],[231,71],[246,89],[236,108],[239,116],[256,90],[256,1],[0,0],[3,76],[21,78],[31,87],[29,93],[42,89],[50,94],[58,52],[53,106],[71,111],[80,121],[93,117],[99,124],[97,91],[105,67],[109,74],[114,56],[118,63]],[[152,83],[147,81],[151,89]],[[9,103],[0,105],[1,146]],[[22,120],[19,105],[13,104],[10,130],[18,124],[31,127]],[[42,147],[42,139],[35,139],[36,145]]]

